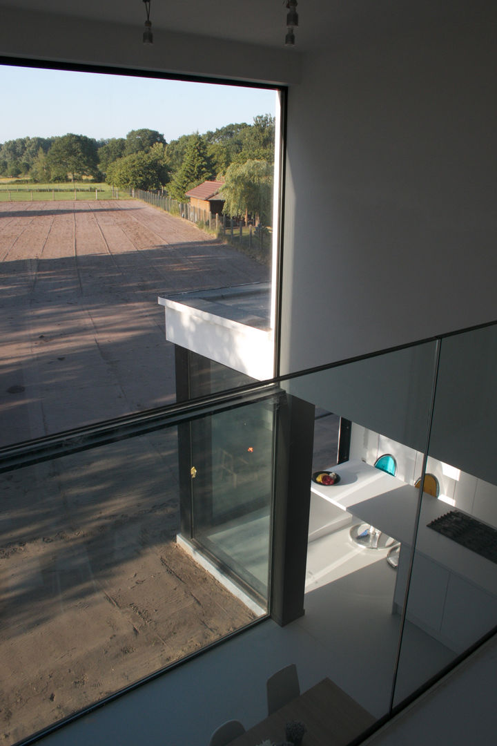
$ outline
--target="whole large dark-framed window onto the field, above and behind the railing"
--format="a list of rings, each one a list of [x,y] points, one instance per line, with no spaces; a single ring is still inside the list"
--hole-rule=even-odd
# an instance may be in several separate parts
[[[253,382],[244,333],[265,336],[272,375],[279,91],[15,65],[0,78],[2,454]],[[158,298],[193,308],[185,294],[241,334],[236,359],[175,352]],[[276,412],[264,398],[2,475],[6,744],[267,613]]]

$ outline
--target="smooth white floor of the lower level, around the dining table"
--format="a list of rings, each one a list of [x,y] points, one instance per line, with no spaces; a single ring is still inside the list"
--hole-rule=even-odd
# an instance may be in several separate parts
[[[353,545],[349,527],[311,542],[302,618],[283,628],[263,621],[64,727],[48,743],[206,746],[230,718],[250,727],[265,717],[265,681],[288,662],[297,663],[302,689],[329,676],[373,715],[384,715],[399,631],[391,613],[396,573],[385,557]],[[407,693],[451,654],[415,628],[405,638],[399,681]]]

